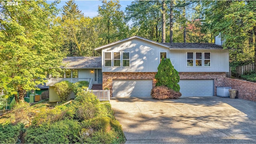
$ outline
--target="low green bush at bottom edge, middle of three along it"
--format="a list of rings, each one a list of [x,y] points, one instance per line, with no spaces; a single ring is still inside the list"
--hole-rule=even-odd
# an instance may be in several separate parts
[[[44,124],[38,128],[31,126],[25,136],[26,143],[60,144],[77,143],[81,125],[76,120],[60,120],[52,124]]]

